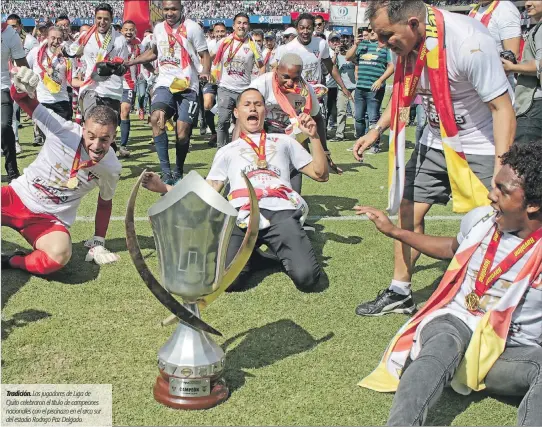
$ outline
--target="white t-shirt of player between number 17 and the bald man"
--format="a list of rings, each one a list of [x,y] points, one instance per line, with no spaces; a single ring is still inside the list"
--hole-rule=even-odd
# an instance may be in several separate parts
[[[226,38],[222,39],[220,43],[224,43],[225,40]],[[241,45],[239,50],[237,50],[239,43],[241,42],[233,40],[224,51],[221,61],[223,65],[222,75],[220,77],[220,82],[218,82],[218,86],[233,92],[241,93],[250,85],[252,70],[255,67],[256,61],[254,58],[254,52],[252,52],[252,49],[250,48],[248,37]],[[256,45],[256,49],[261,54],[258,45]],[[236,50],[237,53],[235,54],[235,57],[229,64],[224,65],[224,63],[228,60],[230,51],[235,52]]]

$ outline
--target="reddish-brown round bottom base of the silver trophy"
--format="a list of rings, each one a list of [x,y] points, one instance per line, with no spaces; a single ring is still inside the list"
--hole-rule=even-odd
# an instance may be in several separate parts
[[[153,389],[154,399],[162,405],[169,406],[173,409],[209,409],[213,408],[214,406],[220,405],[222,402],[225,402],[230,395],[230,391],[225,385],[222,378],[212,381],[211,385],[211,393],[208,396],[173,396],[169,392],[168,380],[164,379],[161,375],[158,375]]]

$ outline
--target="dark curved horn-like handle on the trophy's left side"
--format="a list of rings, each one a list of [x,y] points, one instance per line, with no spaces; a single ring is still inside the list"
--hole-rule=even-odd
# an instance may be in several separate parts
[[[147,285],[147,287],[153,293],[153,295],[158,299],[158,301],[160,301],[164,305],[164,307],[166,307],[175,316],[177,316],[181,322],[194,329],[199,329],[204,332],[209,332],[214,335],[222,336],[219,331],[205,323],[194,313],[185,308],[179,301],[173,298],[173,296],[169,292],[167,292],[160,285],[160,283],[158,283],[156,278],[149,270],[145,259],[143,258],[143,254],[141,253],[139,242],[137,241],[137,234],[135,231],[134,210],[137,193],[141,185],[141,181],[143,180],[143,176],[146,172],[146,170],[143,171],[143,173],[137,180],[134,188],[132,189],[132,193],[130,194],[130,199],[128,201],[128,207],[126,208],[126,219],[124,222],[126,228],[126,246],[128,248],[128,251],[130,252],[130,256],[132,257],[132,261],[136,267],[136,270]]]

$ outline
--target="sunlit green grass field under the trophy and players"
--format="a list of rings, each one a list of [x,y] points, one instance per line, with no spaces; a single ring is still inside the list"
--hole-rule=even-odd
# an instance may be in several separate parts
[[[19,165],[34,160],[32,130],[21,130]],[[350,134],[351,135],[351,134]],[[409,129],[413,141],[414,129]],[[132,157],[114,199],[113,215],[125,214],[129,193],[145,168],[158,171],[149,149],[150,129],[132,125]],[[73,257],[65,269],[44,279],[21,271],[2,272],[2,382],[104,383],[113,385],[115,425],[382,425],[393,396],[358,387],[374,369],[386,345],[406,321],[404,315],[361,318],[354,309],[389,284],[392,242],[368,221],[341,220],[358,203],[386,206],[387,153],[357,163],[346,149],[352,141],[330,143],[344,169],[329,182],[304,180],[303,195],[317,231],[311,240],[325,277],[318,292],[298,291],[280,270],[257,272],[249,289],[219,298],[203,318],[224,334],[225,378],[229,400],[207,411],[183,412],[163,407],[152,396],[158,349],[174,326],[161,327],[168,313],[137,274],[125,245],[124,223],[112,221],[107,246],[120,254],[114,265],[99,268],[84,261],[83,242],[92,221],[72,227]],[[193,139],[185,173],[205,175],[215,149]],[[174,159],[174,150],[170,152]],[[21,168],[22,169],[22,168]],[[3,165],[2,165],[2,170]],[[93,217],[97,193],[82,203],[78,215]],[[158,199],[140,192],[136,216],[146,216]],[[451,215],[435,207],[430,215]],[[427,232],[457,233],[458,220],[427,221]],[[147,221],[136,224],[139,242],[158,275],[154,240]],[[2,229],[2,250],[28,248],[15,232]],[[424,302],[446,268],[445,262],[421,257],[413,279],[415,300]],[[429,413],[429,425],[514,425],[517,401],[479,393],[459,396],[451,390]]]

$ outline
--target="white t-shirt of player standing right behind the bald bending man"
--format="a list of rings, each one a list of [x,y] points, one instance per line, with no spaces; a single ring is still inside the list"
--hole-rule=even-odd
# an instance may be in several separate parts
[[[303,45],[296,37],[290,43],[280,46],[275,55],[279,62],[286,53],[297,53],[303,60],[302,76],[308,83],[320,84],[322,81],[322,60],[328,59],[329,46],[324,39],[313,37],[308,45]]]

